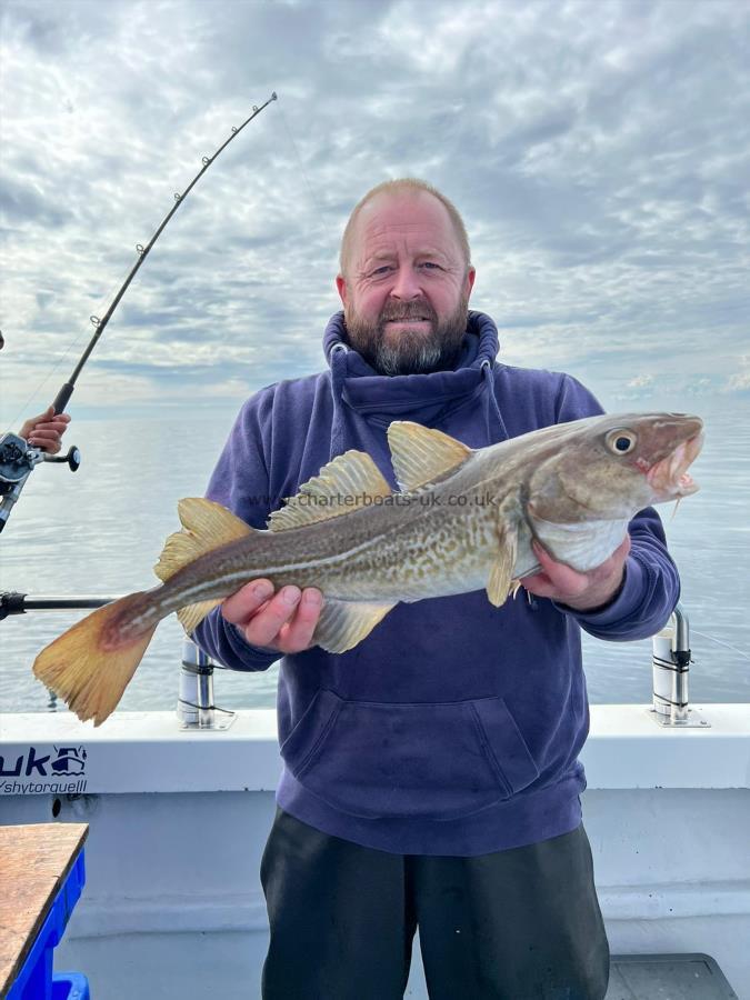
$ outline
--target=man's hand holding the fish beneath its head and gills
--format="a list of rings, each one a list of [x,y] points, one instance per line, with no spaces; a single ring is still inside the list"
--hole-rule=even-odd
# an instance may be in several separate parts
[[[563,562],[556,562],[547,550],[533,541],[541,572],[521,580],[529,593],[547,597],[576,611],[593,611],[610,601],[622,583],[624,561],[630,551],[630,536],[601,566],[579,573]]]

